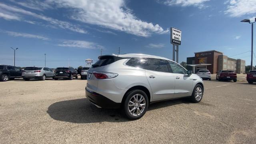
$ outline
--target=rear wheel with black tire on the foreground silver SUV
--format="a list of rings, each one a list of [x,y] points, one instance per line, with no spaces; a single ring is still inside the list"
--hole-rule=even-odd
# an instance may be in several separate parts
[[[142,98],[142,100],[140,98]],[[139,102],[140,100],[141,102]],[[129,106],[129,104],[133,106]],[[140,105],[140,104],[143,104],[143,105]],[[130,113],[130,110],[132,110],[131,112],[133,114]],[[142,112],[140,113],[139,110]],[[148,96],[144,91],[132,90],[128,92],[128,94],[126,94],[126,98],[123,103],[123,111],[127,118],[131,120],[137,120],[142,116],[144,116],[147,110],[148,110]]]

